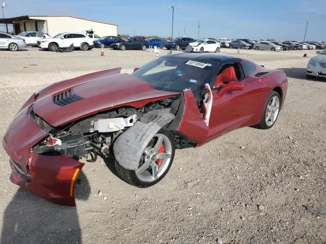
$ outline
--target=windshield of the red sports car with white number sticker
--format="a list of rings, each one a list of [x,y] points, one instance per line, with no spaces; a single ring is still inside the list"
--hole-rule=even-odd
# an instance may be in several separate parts
[[[209,83],[211,73],[218,66],[216,63],[187,58],[160,57],[132,75],[150,83],[157,90],[182,92],[191,88],[195,98],[199,98],[205,83]]]

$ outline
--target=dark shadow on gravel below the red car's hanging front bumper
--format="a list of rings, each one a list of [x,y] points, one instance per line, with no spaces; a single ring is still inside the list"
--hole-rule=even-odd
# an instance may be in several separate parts
[[[78,179],[75,199],[87,200],[90,186],[83,171]],[[57,205],[19,189],[5,210],[1,244],[81,242],[76,207]]]

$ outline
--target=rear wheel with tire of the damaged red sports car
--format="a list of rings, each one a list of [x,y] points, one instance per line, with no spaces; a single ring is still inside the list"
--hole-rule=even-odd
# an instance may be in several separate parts
[[[260,117],[260,123],[254,127],[262,130],[272,128],[278,118],[281,102],[280,94],[275,92],[275,90],[272,90],[265,102],[263,112]]]

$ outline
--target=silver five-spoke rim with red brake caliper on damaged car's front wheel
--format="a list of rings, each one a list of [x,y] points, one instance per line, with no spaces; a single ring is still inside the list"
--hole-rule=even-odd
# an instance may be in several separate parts
[[[170,139],[164,134],[156,134],[154,138],[157,138],[155,145],[146,147],[140,166],[135,170],[136,176],[147,183],[162,176],[171,164],[172,143]]]

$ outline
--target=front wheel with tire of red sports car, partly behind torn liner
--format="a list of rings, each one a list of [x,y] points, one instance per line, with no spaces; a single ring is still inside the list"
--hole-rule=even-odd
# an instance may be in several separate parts
[[[119,176],[128,184],[150,187],[169,171],[175,153],[174,139],[170,131],[160,129],[145,148],[137,170],[128,170],[115,162]]]

